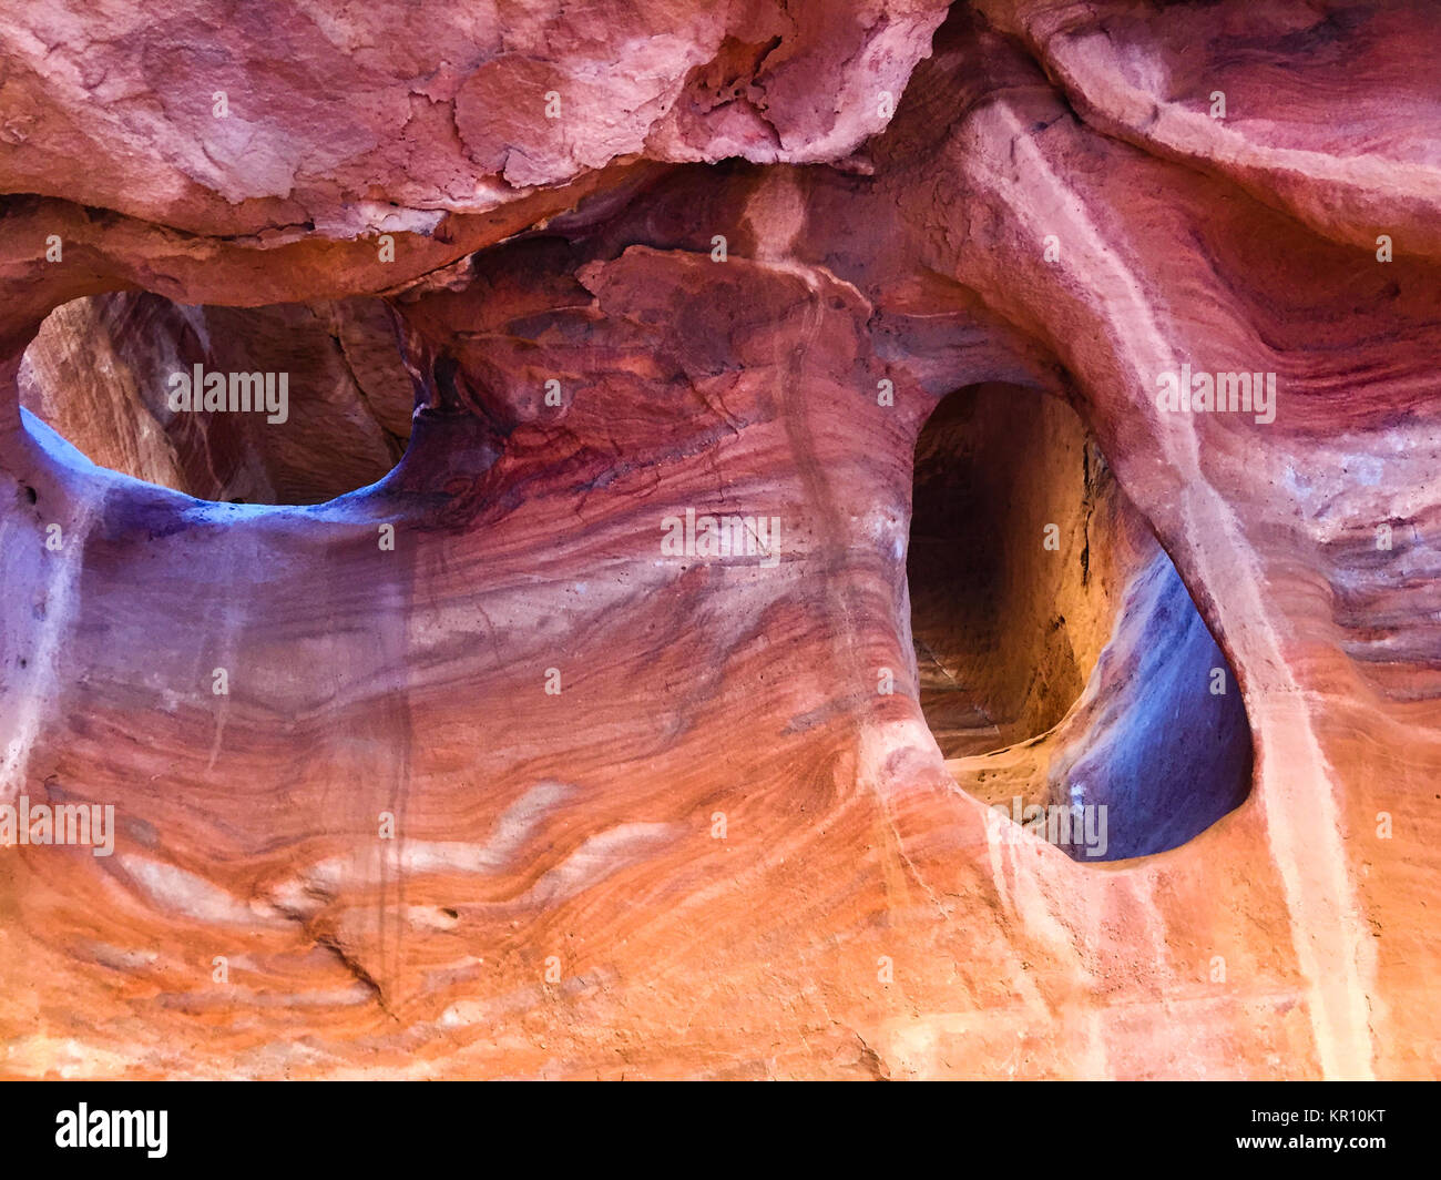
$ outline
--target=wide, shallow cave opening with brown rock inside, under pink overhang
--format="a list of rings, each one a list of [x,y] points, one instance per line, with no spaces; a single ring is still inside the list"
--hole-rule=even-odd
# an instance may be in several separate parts
[[[379,299],[76,299],[24,351],[19,389],[97,466],[249,505],[324,503],[379,482],[405,453],[415,405]]]

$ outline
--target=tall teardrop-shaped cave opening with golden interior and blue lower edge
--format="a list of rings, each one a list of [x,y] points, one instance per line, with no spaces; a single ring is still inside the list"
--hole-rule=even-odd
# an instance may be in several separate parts
[[[906,580],[922,714],[1006,838],[1019,821],[1078,860],[1148,855],[1246,798],[1235,674],[1059,398],[984,384],[937,405]]]

